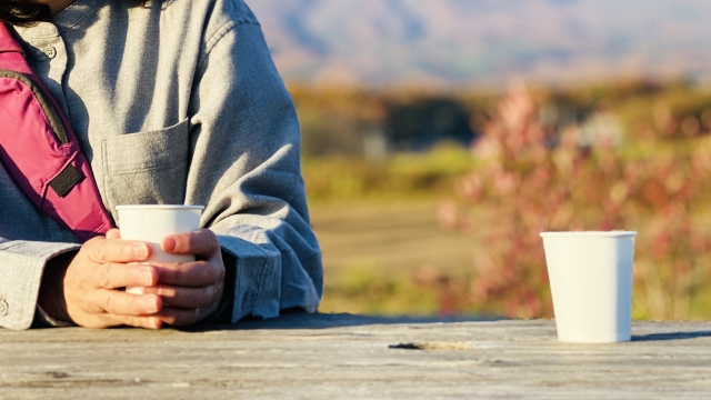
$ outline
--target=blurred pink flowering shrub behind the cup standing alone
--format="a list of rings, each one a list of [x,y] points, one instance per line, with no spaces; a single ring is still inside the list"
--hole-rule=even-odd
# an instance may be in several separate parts
[[[460,183],[459,209],[445,204],[441,220],[479,233],[475,273],[443,291],[443,307],[551,317],[539,233],[635,230],[634,317],[708,318],[711,142],[617,143],[595,124],[583,147],[581,127],[555,132],[540,110],[527,90],[511,91],[472,144],[477,167]]]

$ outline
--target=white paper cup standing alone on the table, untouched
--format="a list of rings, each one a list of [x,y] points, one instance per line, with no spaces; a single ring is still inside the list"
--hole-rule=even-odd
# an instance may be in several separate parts
[[[542,232],[558,339],[629,341],[637,232]]]

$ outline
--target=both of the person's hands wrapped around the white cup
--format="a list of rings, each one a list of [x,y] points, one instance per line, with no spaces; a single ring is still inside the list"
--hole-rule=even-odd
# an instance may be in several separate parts
[[[141,263],[150,257],[148,243],[119,237],[112,229],[106,237],[89,240],[67,269],[64,298],[74,322],[93,328],[158,329],[162,323],[194,323],[219,307],[224,266],[214,233],[176,234],[163,243],[166,251],[194,254],[199,261],[154,261],[150,266]],[[123,287],[149,290],[144,294],[116,290]],[[171,306],[163,307],[163,299]]]

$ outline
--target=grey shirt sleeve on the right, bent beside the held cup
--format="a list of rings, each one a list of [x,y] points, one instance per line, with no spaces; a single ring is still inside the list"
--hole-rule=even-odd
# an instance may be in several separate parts
[[[192,88],[186,201],[206,206],[203,222],[233,256],[226,261],[234,269],[234,281],[226,282],[232,322],[283,309],[314,312],[323,272],[291,97],[258,23],[231,21],[214,31]]]

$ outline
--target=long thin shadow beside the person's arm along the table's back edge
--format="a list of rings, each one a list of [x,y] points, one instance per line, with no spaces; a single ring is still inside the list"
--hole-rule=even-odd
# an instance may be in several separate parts
[[[253,330],[253,329],[327,329],[371,324],[398,323],[452,323],[471,321],[497,321],[502,318],[482,316],[457,317],[373,317],[351,313],[290,313],[268,320],[246,320],[236,324],[212,324],[181,329],[189,332],[211,330]]]

